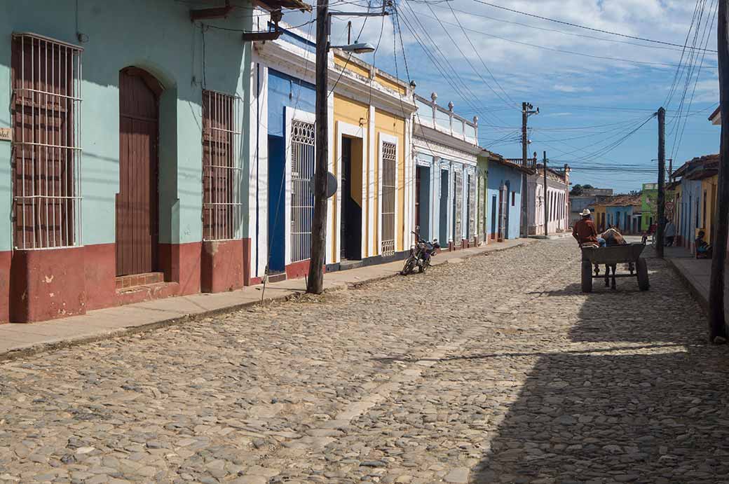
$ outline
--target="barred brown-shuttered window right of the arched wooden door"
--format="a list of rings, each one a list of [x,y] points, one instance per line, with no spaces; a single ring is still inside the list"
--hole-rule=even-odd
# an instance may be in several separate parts
[[[203,240],[240,237],[239,98],[203,90]]]

